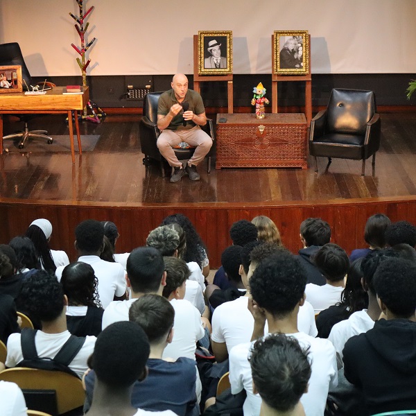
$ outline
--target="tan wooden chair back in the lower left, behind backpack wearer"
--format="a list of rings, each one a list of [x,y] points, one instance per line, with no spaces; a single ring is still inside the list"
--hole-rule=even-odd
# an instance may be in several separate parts
[[[0,372],[0,380],[16,383],[23,391],[26,406],[34,410],[55,413],[44,407],[53,392],[59,415],[80,408],[85,401],[83,382],[65,372],[15,367]]]

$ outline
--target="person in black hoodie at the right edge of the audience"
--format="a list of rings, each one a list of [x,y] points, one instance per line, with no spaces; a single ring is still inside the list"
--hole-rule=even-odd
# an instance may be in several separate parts
[[[415,409],[416,265],[386,259],[373,284],[386,319],[347,341],[345,378],[363,392],[370,415]]]

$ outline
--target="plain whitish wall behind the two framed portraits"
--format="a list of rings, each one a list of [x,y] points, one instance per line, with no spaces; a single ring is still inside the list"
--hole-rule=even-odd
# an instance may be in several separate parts
[[[416,72],[415,0],[84,0],[91,75],[193,73],[193,35],[233,31],[234,73],[270,73],[273,31],[311,34],[312,73]],[[79,75],[75,0],[0,0],[33,76]]]

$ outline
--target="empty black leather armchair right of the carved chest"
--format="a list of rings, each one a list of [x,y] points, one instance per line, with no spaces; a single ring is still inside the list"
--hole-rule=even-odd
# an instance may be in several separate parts
[[[317,156],[363,160],[361,175],[365,175],[365,160],[380,147],[381,121],[376,114],[374,92],[361,89],[333,89],[327,110],[313,117],[309,133],[309,153]]]

